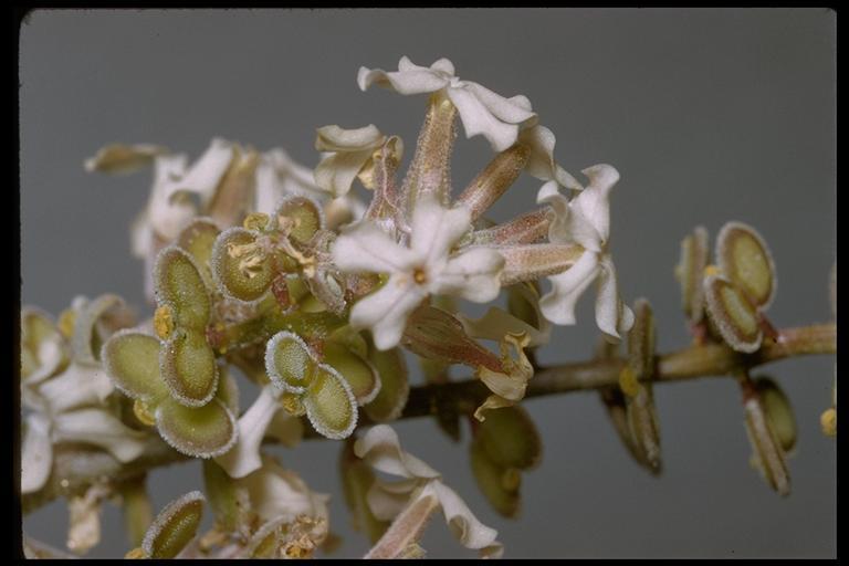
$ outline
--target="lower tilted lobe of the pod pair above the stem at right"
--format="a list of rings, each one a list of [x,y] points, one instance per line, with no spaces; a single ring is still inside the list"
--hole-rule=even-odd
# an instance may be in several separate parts
[[[757,308],[727,280],[704,277],[708,315],[722,339],[736,352],[752,353],[761,347],[763,332]]]

